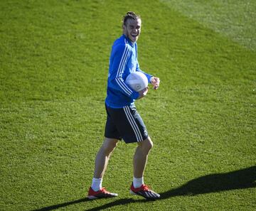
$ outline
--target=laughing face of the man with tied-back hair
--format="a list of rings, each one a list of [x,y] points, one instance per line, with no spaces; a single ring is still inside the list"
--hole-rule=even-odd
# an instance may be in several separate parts
[[[139,38],[141,32],[142,20],[140,18],[127,19],[126,23],[123,25],[123,33],[132,43],[136,42]]]

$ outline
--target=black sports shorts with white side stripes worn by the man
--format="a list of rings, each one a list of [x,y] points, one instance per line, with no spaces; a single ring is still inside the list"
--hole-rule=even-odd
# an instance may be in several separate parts
[[[106,106],[106,111],[106,138],[124,139],[127,144],[144,141],[148,138],[146,126],[135,105],[126,106],[121,109],[113,109]]]

